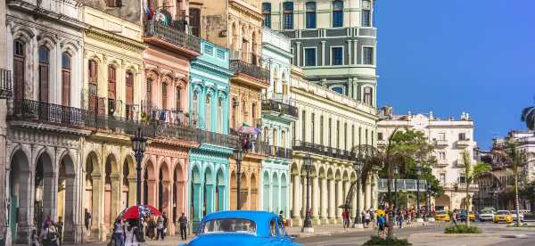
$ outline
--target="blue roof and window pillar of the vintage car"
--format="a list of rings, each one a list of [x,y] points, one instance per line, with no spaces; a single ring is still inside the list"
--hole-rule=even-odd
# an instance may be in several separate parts
[[[220,218],[250,219],[257,224],[257,235],[268,235],[270,233],[268,228],[269,221],[277,217],[278,216],[276,214],[266,211],[229,210],[211,213],[210,215],[202,218],[202,222]]]

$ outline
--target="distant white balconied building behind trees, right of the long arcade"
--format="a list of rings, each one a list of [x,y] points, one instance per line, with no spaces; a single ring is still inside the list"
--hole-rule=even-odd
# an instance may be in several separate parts
[[[435,146],[433,155],[437,162],[432,167],[432,174],[444,187],[444,193],[435,198],[435,209],[464,208],[465,163],[462,152],[470,152],[471,165],[475,164],[473,149],[476,143],[473,141],[473,120],[470,115],[463,112],[460,119],[440,119],[434,117],[432,112],[413,115],[409,111],[406,115],[394,115],[390,107],[383,107],[381,114],[383,120],[377,123],[377,145],[387,143],[396,128],[424,132],[429,143]],[[477,185],[472,184],[470,192],[476,190]]]

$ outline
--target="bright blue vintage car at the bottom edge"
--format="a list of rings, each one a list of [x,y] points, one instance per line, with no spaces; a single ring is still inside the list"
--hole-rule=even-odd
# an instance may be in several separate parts
[[[297,246],[276,214],[262,211],[222,211],[204,217],[197,235],[182,245]]]

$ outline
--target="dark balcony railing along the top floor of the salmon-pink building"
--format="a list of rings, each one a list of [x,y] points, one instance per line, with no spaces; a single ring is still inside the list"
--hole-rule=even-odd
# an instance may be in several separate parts
[[[201,53],[201,39],[188,35],[180,29],[163,25],[158,21],[145,21],[144,36],[158,37],[171,44],[185,46],[197,53]]]

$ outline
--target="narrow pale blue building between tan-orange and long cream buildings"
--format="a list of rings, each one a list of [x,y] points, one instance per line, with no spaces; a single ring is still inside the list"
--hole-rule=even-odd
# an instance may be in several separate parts
[[[268,143],[269,157],[262,161],[260,204],[266,211],[283,211],[288,217],[289,169],[292,164],[291,125],[297,119],[295,102],[290,98],[292,53],[290,40],[271,29],[262,31],[262,59],[270,71],[270,85],[262,92],[262,137]]]

